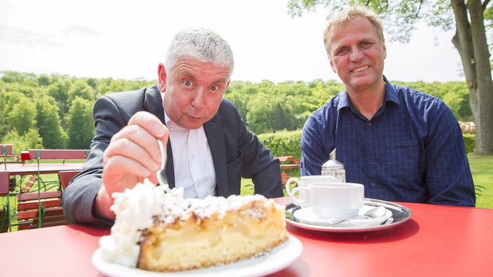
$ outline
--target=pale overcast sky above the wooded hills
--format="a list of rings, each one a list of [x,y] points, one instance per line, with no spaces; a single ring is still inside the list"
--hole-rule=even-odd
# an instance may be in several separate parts
[[[0,0],[0,71],[76,78],[157,78],[167,43],[187,27],[230,43],[232,80],[339,80],[323,32],[329,10],[291,18],[287,0]],[[387,38],[389,80],[464,80],[452,31],[419,25],[410,43]]]

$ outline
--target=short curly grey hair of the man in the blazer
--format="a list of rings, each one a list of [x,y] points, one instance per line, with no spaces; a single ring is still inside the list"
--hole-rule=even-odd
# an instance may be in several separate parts
[[[230,69],[230,76],[235,67],[230,45],[210,29],[183,29],[175,34],[169,43],[165,67],[172,69],[176,60],[183,56],[226,66]]]

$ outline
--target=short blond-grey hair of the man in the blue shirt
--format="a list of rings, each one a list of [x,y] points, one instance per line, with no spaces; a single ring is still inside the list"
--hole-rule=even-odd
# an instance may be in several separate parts
[[[331,39],[331,34],[334,31],[336,27],[340,27],[346,22],[349,22],[353,20],[356,17],[366,17],[368,20],[370,20],[371,24],[373,24],[373,27],[375,27],[375,31],[377,31],[378,36],[380,37],[380,40],[384,40],[384,27],[380,19],[378,19],[377,15],[373,12],[373,10],[370,10],[369,8],[366,8],[364,6],[352,6],[349,8],[346,8],[345,10],[341,10],[339,13],[336,13],[333,17],[331,17],[330,20],[328,20],[327,27],[324,31],[324,45],[325,45],[325,50],[327,51],[327,55],[331,55],[329,52],[330,46],[332,41],[329,41]]]

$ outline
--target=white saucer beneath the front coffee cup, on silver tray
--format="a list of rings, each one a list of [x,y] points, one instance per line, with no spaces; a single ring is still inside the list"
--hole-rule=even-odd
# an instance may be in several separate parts
[[[375,208],[375,206],[363,205],[359,209],[358,215],[363,215],[370,208]],[[294,211],[293,216],[300,222],[308,225],[320,225],[320,226],[333,226],[333,227],[370,227],[382,224],[385,220],[388,220],[392,216],[392,212],[389,209],[385,209],[384,215],[379,218],[353,218],[345,220],[336,225],[331,225],[328,222],[333,221],[332,219],[321,219],[317,218],[312,211],[312,208],[300,208]]]

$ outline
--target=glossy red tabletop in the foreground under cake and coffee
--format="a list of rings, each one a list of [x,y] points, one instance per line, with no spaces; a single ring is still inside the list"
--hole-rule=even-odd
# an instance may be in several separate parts
[[[303,253],[272,276],[492,276],[493,209],[398,204],[411,209],[410,220],[377,232],[329,234],[288,225]],[[0,234],[2,274],[98,276],[90,258],[106,234],[109,229],[81,225]]]

